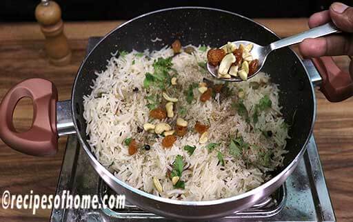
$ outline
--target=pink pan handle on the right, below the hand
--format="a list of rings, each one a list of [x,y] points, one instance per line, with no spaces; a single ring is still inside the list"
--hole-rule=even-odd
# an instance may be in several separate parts
[[[352,78],[336,65],[332,57],[313,58],[312,62],[321,75],[320,90],[328,101],[339,102],[352,97]]]

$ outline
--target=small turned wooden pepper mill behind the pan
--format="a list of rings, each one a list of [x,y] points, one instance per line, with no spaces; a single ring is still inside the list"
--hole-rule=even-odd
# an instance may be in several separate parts
[[[50,63],[57,66],[70,63],[71,51],[68,39],[63,34],[60,6],[55,1],[41,0],[35,16],[41,24],[41,32],[46,37],[46,53]]]

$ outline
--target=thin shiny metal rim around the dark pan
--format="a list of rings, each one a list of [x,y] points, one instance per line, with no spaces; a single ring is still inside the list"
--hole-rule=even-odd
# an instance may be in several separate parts
[[[223,198],[223,199],[216,199],[216,200],[212,200],[212,201],[179,201],[179,200],[174,200],[174,199],[168,199],[168,198],[161,197],[161,196],[156,196],[154,194],[150,194],[148,192],[139,190],[137,188],[132,187],[132,185],[129,185],[128,183],[125,183],[125,182],[121,181],[120,179],[115,177],[111,172],[109,172],[103,165],[101,165],[101,163],[99,163],[97,158],[93,156],[92,152],[90,151],[89,145],[87,146],[85,144],[85,141],[83,141],[83,138],[81,137],[81,134],[79,133],[79,128],[77,127],[77,122],[76,122],[77,114],[76,114],[76,110],[74,109],[74,107],[75,107],[75,105],[74,105],[74,94],[75,94],[75,91],[76,91],[76,85],[79,82],[79,76],[81,74],[81,70],[82,70],[83,66],[85,65],[86,61],[88,60],[88,57],[90,57],[90,54],[92,54],[92,52],[94,52],[94,50],[99,46],[99,44],[101,42],[103,42],[106,38],[108,38],[110,36],[110,34],[112,34],[113,32],[116,32],[117,30],[119,30],[123,26],[126,26],[128,23],[131,23],[132,21],[137,21],[138,19],[146,17],[146,16],[148,16],[150,14],[157,14],[159,12],[165,12],[165,11],[170,11],[170,10],[183,10],[183,9],[212,10],[212,11],[218,11],[218,12],[224,12],[224,13],[232,14],[234,16],[241,17],[243,19],[246,19],[248,21],[256,23],[256,25],[261,26],[265,30],[267,30],[270,33],[274,34],[275,37],[279,38],[279,36],[277,34],[275,34],[272,30],[270,30],[266,26],[263,26],[261,23],[259,23],[257,21],[249,19],[248,17],[244,17],[241,14],[237,14],[235,12],[230,12],[230,11],[227,11],[227,10],[221,10],[221,9],[218,9],[218,8],[208,8],[208,7],[199,7],[199,6],[181,6],[181,7],[174,7],[174,8],[164,8],[164,9],[161,9],[161,10],[155,10],[155,11],[152,11],[152,12],[141,14],[138,17],[130,19],[129,21],[126,21],[125,23],[122,23],[121,25],[117,26],[117,28],[114,28],[113,30],[108,32],[108,34],[105,34],[105,36],[97,43],[97,45],[94,46],[94,48],[92,48],[92,50],[86,55],[85,59],[83,59],[81,65],[79,66],[79,70],[77,71],[77,75],[76,75],[76,77],[74,79],[74,85],[72,85],[72,94],[71,94],[72,121],[74,123],[74,129],[77,132],[76,133],[77,134],[77,138],[79,139],[79,142],[83,146],[83,149],[85,150],[86,154],[88,154],[88,157],[90,158],[90,161],[93,161],[93,163],[95,165],[97,165],[97,167],[99,168],[100,172],[102,172],[105,176],[108,176],[110,180],[114,181],[114,183],[117,183],[117,184],[121,185],[123,188],[125,188],[127,190],[130,190],[131,192],[134,192],[134,193],[139,194],[141,196],[144,196],[144,197],[146,197],[148,199],[153,199],[154,201],[159,201],[159,202],[163,202],[163,203],[172,203],[172,204],[175,204],[175,205],[208,206],[208,205],[219,205],[219,204],[223,204],[223,203],[230,203],[232,201],[238,201],[240,199],[245,199],[245,198],[248,198],[250,196],[256,196],[256,194],[261,192],[261,190],[264,190],[265,188],[270,187],[272,184],[274,184],[277,181],[279,181],[283,176],[285,176],[285,179],[286,179],[290,175],[290,174],[288,174],[288,172],[291,172],[291,170],[294,170],[296,165],[299,163],[299,160],[301,159],[301,157],[303,157],[303,154],[304,154],[304,152],[306,150],[307,143],[310,141],[310,137],[312,137],[312,132],[313,132],[313,129],[314,129],[314,123],[316,121],[316,96],[315,96],[315,92],[314,92],[314,86],[312,85],[312,81],[310,80],[310,75],[307,72],[307,68],[305,67],[305,65],[303,63],[303,60],[299,57],[298,54],[296,54],[296,52],[294,52],[294,50],[292,50],[292,48],[290,48],[290,50],[294,53],[294,55],[296,56],[296,59],[298,59],[300,64],[303,66],[303,68],[305,70],[306,77],[307,77],[308,81],[310,82],[309,85],[310,85],[310,89],[311,89],[311,92],[312,92],[312,101],[313,101],[312,124],[311,124],[310,131],[307,134],[307,138],[305,139],[305,143],[303,143],[300,152],[298,154],[296,154],[296,157],[292,160],[292,162],[290,164],[288,164],[279,174],[274,176],[269,181],[261,184],[257,188],[249,190],[248,192],[244,192],[243,194],[238,194],[238,195],[235,195],[235,196],[230,196],[230,197]],[[94,168],[94,170],[98,171],[97,168]],[[101,174],[99,174],[99,176],[101,176]],[[103,179],[103,180],[105,181],[105,179]],[[262,197],[262,196],[260,195],[259,197]]]

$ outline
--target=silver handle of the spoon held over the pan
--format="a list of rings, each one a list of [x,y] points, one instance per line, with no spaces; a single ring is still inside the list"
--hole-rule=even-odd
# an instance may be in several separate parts
[[[279,41],[275,41],[270,44],[270,49],[272,51],[279,48],[283,48],[285,46],[292,46],[296,43],[300,43],[304,39],[323,37],[327,34],[332,34],[335,32],[341,32],[341,30],[339,30],[339,28],[337,28],[332,22],[325,23],[325,25],[312,28],[310,30],[295,34],[285,39],[280,39]]]

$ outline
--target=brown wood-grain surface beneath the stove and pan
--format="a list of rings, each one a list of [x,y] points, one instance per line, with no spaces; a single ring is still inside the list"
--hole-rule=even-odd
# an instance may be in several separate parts
[[[307,29],[306,19],[257,19],[281,37]],[[70,99],[72,83],[83,57],[88,37],[102,36],[119,21],[65,23],[65,33],[72,48],[70,65],[49,65],[43,50],[43,35],[35,23],[0,23],[0,98],[12,85],[30,77],[54,82],[59,99]],[[336,59],[347,68],[347,59]],[[353,98],[330,103],[316,92],[318,112],[314,129],[321,162],[325,170],[338,221],[353,221]],[[29,128],[32,118],[30,101],[21,101],[14,114],[19,130]],[[65,150],[65,138],[59,139],[54,157],[29,157],[8,148],[0,141],[0,194],[54,194]],[[0,221],[48,221],[50,210],[3,210]]]

